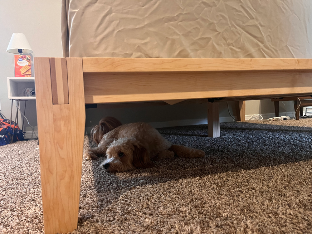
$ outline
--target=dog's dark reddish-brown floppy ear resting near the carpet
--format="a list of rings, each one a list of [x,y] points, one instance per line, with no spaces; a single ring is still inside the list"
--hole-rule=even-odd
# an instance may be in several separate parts
[[[133,151],[133,161],[132,165],[136,168],[150,168],[153,167],[154,164],[152,163],[149,153],[147,149],[140,144],[138,141],[134,141],[134,151]]]

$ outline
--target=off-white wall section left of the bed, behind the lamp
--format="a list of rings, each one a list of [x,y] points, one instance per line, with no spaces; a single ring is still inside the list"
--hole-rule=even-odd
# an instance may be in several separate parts
[[[22,32],[34,51],[33,56],[62,57],[61,1],[0,0],[0,101],[1,112],[10,118],[7,77],[14,76],[14,54],[7,53],[12,33]],[[32,73],[32,76],[34,74]],[[15,105],[13,113],[15,114]],[[24,103],[21,108],[23,110]],[[36,102],[27,101],[26,116],[37,125]],[[26,120],[25,120],[26,122]],[[20,121],[20,125],[21,121]],[[30,127],[26,127],[30,131]]]

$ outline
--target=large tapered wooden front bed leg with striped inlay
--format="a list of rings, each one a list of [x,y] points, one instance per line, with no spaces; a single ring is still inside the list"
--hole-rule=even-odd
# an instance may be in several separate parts
[[[44,229],[71,232],[78,222],[85,129],[82,59],[34,62]]]

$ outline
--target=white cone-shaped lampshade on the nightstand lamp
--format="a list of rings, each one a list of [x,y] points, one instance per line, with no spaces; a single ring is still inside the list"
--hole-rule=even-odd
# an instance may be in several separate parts
[[[12,54],[19,54],[18,49],[23,49],[23,54],[30,54],[34,52],[30,47],[25,35],[23,33],[13,33],[10,43],[7,46],[7,52]]]

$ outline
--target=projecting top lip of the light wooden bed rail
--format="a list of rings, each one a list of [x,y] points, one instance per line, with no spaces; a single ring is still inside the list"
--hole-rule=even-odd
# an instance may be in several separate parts
[[[312,70],[312,59],[82,58],[84,72]]]

